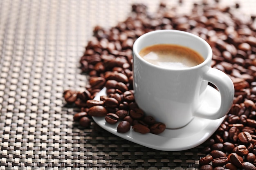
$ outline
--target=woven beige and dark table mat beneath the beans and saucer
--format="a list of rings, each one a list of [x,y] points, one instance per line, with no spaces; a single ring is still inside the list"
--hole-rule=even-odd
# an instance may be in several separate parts
[[[79,58],[94,26],[115,26],[134,2],[0,1],[0,170],[198,169],[205,156],[200,146],[182,152],[146,148],[95,123],[79,128],[76,110],[64,107],[63,91],[83,91],[88,83]],[[150,11],[159,4],[136,2]],[[192,2],[184,0],[180,11]],[[241,10],[254,12],[254,0],[242,2]]]

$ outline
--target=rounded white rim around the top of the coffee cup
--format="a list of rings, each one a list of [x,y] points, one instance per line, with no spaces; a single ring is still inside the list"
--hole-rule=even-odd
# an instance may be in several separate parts
[[[146,37],[146,36],[150,36],[152,34],[157,34],[157,33],[163,33],[163,32],[172,32],[172,33],[179,33],[179,34],[185,34],[185,35],[188,35],[190,37],[193,37],[201,42],[204,43],[205,47],[207,48],[207,51],[209,51],[207,53],[207,57],[204,59],[204,61],[196,66],[193,66],[193,67],[188,67],[188,68],[181,68],[181,69],[175,69],[175,68],[166,68],[166,67],[162,67],[162,66],[158,66],[158,65],[155,65],[155,64],[152,64],[146,60],[144,60],[140,55],[139,55],[139,51],[136,49],[137,46],[138,46],[138,43],[139,41]],[[156,43],[156,44],[161,44],[161,43]],[[162,44],[165,44],[165,43],[162,43]],[[180,44],[178,44],[180,45]],[[194,50],[194,49],[193,49]],[[196,50],[195,50],[196,51]],[[198,51],[197,51],[198,52]],[[189,32],[186,32],[186,31],[180,31],[180,30],[173,30],[173,29],[163,29],[163,30],[155,30],[155,31],[150,31],[148,33],[145,33],[143,35],[141,35],[139,38],[137,38],[132,46],[132,55],[134,57],[134,55],[137,56],[137,58],[139,60],[141,60],[142,62],[144,62],[145,64],[148,64],[149,66],[151,67],[155,67],[155,68],[159,68],[159,69],[163,69],[163,70],[170,70],[170,71],[183,71],[183,70],[193,70],[193,69],[197,69],[197,68],[201,68],[202,66],[205,66],[208,62],[210,62],[209,60],[212,59],[212,55],[213,55],[213,52],[212,52],[212,49],[211,49],[211,46],[208,44],[208,42],[206,42],[204,39],[202,39],[201,37],[199,37],[198,35],[195,35],[193,33],[189,33]],[[204,56],[202,56],[204,57]]]

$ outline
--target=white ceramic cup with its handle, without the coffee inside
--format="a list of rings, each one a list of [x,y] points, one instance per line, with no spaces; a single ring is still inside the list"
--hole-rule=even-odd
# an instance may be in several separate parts
[[[163,68],[144,60],[139,52],[155,44],[177,44],[197,51],[204,62],[184,69]],[[185,31],[157,30],[141,35],[133,44],[133,89],[138,106],[166,128],[182,128],[193,117],[219,119],[229,112],[234,84],[229,76],[211,68],[212,50],[202,38]],[[220,92],[220,106],[203,106],[208,82]]]

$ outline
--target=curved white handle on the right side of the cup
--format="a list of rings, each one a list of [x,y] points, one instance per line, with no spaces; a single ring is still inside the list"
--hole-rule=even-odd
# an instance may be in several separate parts
[[[234,99],[234,84],[227,74],[216,69],[210,68],[203,76],[203,79],[214,84],[220,92],[220,107],[218,110],[207,109],[200,106],[194,116],[206,119],[220,119],[229,112]]]

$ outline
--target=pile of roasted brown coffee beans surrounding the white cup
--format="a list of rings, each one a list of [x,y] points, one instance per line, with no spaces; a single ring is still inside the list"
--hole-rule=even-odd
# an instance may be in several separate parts
[[[164,124],[144,115],[134,100],[132,45],[149,31],[187,31],[211,45],[212,67],[227,73],[235,87],[234,104],[227,117],[202,144],[206,157],[200,159],[200,169],[256,170],[256,16],[244,15],[239,7],[221,7],[218,0],[202,1],[194,4],[191,13],[178,14],[175,8],[161,3],[152,14],[145,5],[134,4],[124,22],[110,29],[96,26],[80,60],[81,70],[90,76],[89,85],[84,92],[64,92],[67,104],[81,108],[74,121],[88,127],[90,116],[99,114],[110,124],[122,120],[119,132],[127,132],[130,125],[141,133],[162,132]],[[104,86],[107,95],[94,101]]]

